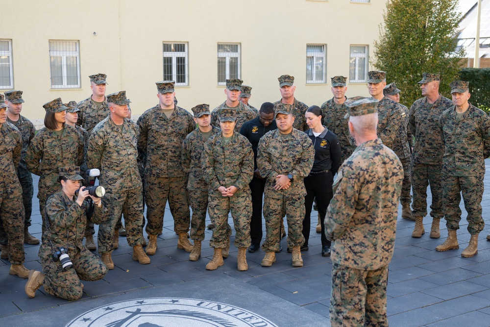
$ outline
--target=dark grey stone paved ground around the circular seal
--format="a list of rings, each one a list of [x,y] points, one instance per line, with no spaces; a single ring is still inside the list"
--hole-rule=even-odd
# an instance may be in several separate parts
[[[487,171],[490,161],[487,160]],[[485,186],[490,190],[489,174]],[[35,179],[37,185],[37,178]],[[430,194],[429,200],[430,201]],[[37,202],[37,201],[34,201]],[[489,222],[490,192],[483,197],[484,218]],[[461,204],[463,217],[466,211]],[[41,217],[34,208],[30,232],[41,237]],[[401,214],[401,207],[399,210]],[[458,231],[460,249],[436,252],[447,236],[444,221],[441,239],[411,237],[414,223],[401,219],[395,252],[390,264],[388,313],[391,326],[490,326],[490,242],[487,226],[479,237],[479,252],[462,258],[469,241],[466,221]],[[97,282],[84,282],[84,295],[75,302],[47,295],[43,288],[29,299],[24,292],[26,279],[10,276],[9,263],[0,261],[0,326],[64,326],[95,307],[128,299],[175,297],[223,302],[259,314],[277,326],[329,326],[330,258],[320,255],[320,238],[315,232],[316,212],[312,214],[310,250],[303,253],[304,267],[293,268],[291,254],[277,254],[270,268],[260,266],[264,252],[247,253],[249,269],[236,270],[237,249],[230,249],[224,266],[206,271],[213,250],[211,233],[206,230],[202,258],[188,260],[188,253],[176,248],[177,235],[168,212],[164,232],[158,237],[157,253],[151,264],[140,265],[131,258],[132,249],[120,237],[113,252],[116,268]],[[431,219],[425,218],[426,230]],[[232,238],[233,239],[233,238]],[[286,239],[282,247],[286,248]],[[25,245],[25,266],[41,269],[39,246]]]

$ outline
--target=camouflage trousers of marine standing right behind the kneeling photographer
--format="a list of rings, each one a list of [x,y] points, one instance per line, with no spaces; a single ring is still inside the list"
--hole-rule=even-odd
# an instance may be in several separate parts
[[[109,218],[98,226],[98,252],[112,252],[114,250],[113,238],[114,229],[121,216],[121,213],[127,212],[124,217],[126,223],[126,239],[130,247],[143,244],[141,233],[143,229],[143,194],[141,187],[128,191],[107,191],[104,196],[104,204],[107,204]]]

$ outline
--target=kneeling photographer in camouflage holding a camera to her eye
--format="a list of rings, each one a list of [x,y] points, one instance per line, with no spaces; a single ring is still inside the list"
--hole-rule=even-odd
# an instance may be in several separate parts
[[[43,272],[31,270],[25,284],[25,293],[34,298],[36,290],[44,286],[51,295],[77,300],[82,296],[80,280],[95,281],[107,274],[107,267],[100,258],[82,244],[86,224],[86,199],[92,199],[95,209],[92,221],[100,224],[107,219],[100,194],[89,194],[80,187],[83,177],[78,167],[59,169],[58,182],[61,191],[46,201],[47,228],[39,257]]]

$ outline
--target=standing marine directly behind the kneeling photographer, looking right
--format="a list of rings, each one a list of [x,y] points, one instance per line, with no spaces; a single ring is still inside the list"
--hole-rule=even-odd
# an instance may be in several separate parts
[[[108,95],[107,102],[111,114],[98,123],[90,135],[87,164],[100,170],[98,180],[106,190],[104,201],[110,214],[98,228],[98,252],[107,268],[114,269],[111,257],[114,230],[123,210],[127,210],[124,217],[126,239],[133,247],[133,260],[147,264],[150,259],[141,246],[143,192],[136,162],[138,126],[125,118],[130,102],[125,91]]]

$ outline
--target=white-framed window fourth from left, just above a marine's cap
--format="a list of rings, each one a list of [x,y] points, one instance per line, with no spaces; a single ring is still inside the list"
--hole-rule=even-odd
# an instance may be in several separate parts
[[[230,78],[241,78],[240,44],[218,44],[218,85]]]

